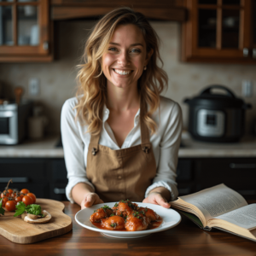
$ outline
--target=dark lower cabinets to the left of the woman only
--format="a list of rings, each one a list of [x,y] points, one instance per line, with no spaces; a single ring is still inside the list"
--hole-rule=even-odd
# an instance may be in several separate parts
[[[38,198],[67,201],[67,170],[64,159],[0,159],[0,190],[12,178],[12,189],[29,189]]]

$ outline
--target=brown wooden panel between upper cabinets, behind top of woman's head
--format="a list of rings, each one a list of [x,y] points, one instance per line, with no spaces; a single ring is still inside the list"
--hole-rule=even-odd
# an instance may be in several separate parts
[[[184,21],[185,0],[51,0],[51,18],[67,20],[106,15],[119,7],[131,7],[149,19]]]

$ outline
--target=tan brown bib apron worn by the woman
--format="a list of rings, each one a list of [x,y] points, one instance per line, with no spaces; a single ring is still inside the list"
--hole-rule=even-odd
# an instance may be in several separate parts
[[[156,175],[154,152],[148,127],[143,122],[145,107],[141,106],[142,144],[119,150],[99,145],[100,133],[91,136],[86,173],[102,201],[143,201],[146,189]]]

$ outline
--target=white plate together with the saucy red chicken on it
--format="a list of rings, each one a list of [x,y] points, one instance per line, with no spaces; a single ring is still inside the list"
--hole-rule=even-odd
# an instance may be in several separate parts
[[[77,212],[76,222],[88,230],[117,238],[137,238],[169,230],[180,223],[178,212],[159,205],[121,200]]]

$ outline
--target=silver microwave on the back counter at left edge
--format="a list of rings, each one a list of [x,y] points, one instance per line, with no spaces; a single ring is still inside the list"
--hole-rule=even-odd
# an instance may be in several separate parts
[[[32,113],[32,102],[23,100],[17,105],[0,105],[0,144],[15,145],[27,135],[27,119]]]

